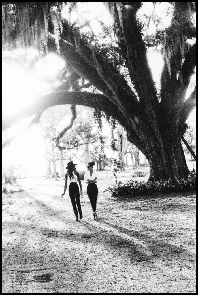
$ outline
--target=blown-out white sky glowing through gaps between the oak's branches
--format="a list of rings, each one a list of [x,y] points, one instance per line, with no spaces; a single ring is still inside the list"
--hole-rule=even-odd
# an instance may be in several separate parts
[[[163,2],[162,2],[163,3]],[[157,14],[163,14],[163,4],[158,5]],[[83,23],[86,19],[95,18],[91,21],[91,28],[95,34],[101,32],[101,27],[97,21],[97,17],[106,24],[111,23],[109,14],[105,9],[102,2],[86,2],[86,9],[84,5],[78,2],[77,8],[71,14],[70,22]],[[160,8],[161,7],[161,8]],[[152,13],[153,6],[150,2],[143,2],[143,9],[148,15]],[[78,12],[81,12],[79,17]],[[90,13],[91,11],[91,13]],[[143,10],[139,12],[143,13]],[[63,11],[63,16],[67,15],[67,10]],[[167,25],[169,24],[167,18]],[[88,30],[85,27],[84,30]],[[150,33],[156,30],[154,24],[151,23]],[[3,52],[3,56],[17,56],[27,55],[27,60],[31,61],[38,53],[34,49],[14,50],[12,52]],[[153,79],[156,82],[156,86],[159,86],[160,73],[163,66],[163,58],[161,54],[154,53],[152,49],[147,53],[148,61],[153,73]],[[42,58],[37,62],[33,71],[28,68],[24,68],[23,65],[18,63],[2,63],[2,114],[6,117],[16,110],[20,111],[26,108],[34,102],[34,100],[49,91],[50,84],[47,81],[52,79],[53,76],[65,67],[65,62],[58,56],[58,54],[49,54],[45,58]],[[23,119],[17,122],[12,128],[10,128],[6,134],[3,134],[3,140],[12,137],[17,134],[19,130],[24,130],[25,126],[30,122],[30,118]],[[194,109],[189,117],[190,124],[195,124],[196,110]],[[103,128],[105,130],[108,127]],[[106,132],[109,135],[110,130]],[[107,157],[112,157],[112,151],[106,150]],[[8,166],[9,163],[14,165],[21,164],[26,168],[27,176],[42,176],[46,173],[46,160],[45,160],[45,141],[43,139],[42,131],[38,125],[32,126],[27,132],[24,132],[21,136],[17,137],[8,148],[5,148],[2,152],[3,165]],[[78,162],[77,162],[78,163]],[[57,169],[58,171],[58,169]]]

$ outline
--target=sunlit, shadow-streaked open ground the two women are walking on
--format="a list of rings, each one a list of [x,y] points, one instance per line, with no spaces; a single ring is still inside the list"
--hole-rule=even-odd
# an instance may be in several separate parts
[[[3,195],[3,293],[196,292],[195,194],[115,201],[101,191],[98,221],[85,194],[75,222],[63,185]]]

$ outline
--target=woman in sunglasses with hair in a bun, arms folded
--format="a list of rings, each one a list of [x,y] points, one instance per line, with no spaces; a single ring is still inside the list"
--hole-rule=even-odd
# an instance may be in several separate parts
[[[94,161],[89,162],[87,164],[87,171],[84,174],[84,181],[86,183],[88,183],[87,194],[88,194],[89,200],[91,202],[94,220],[97,220],[96,201],[97,201],[97,196],[98,196],[98,188],[96,185],[97,174],[96,174],[96,171],[93,170],[94,165],[95,165]]]

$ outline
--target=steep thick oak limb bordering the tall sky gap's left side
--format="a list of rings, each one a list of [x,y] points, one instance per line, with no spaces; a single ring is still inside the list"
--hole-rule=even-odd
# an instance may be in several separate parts
[[[126,60],[140,102],[146,101],[147,106],[151,104],[157,107],[156,88],[146,57],[146,47],[142,39],[140,25],[135,17],[136,11],[141,7],[141,2],[127,2],[126,4],[106,2],[106,6],[108,5],[109,12],[114,20],[122,55]],[[149,96],[148,93],[150,93]]]

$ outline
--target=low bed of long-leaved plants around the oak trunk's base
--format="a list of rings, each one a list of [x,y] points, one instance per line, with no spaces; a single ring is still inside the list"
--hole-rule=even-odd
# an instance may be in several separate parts
[[[112,196],[125,197],[125,196],[135,196],[135,195],[145,195],[153,194],[155,192],[175,192],[175,191],[187,191],[196,189],[196,171],[189,174],[189,176],[184,179],[177,180],[174,183],[171,178],[161,181],[136,181],[130,180],[128,183],[122,183],[119,181],[117,185],[108,187],[105,191],[109,191]],[[104,192],[105,192],[104,191]]]

